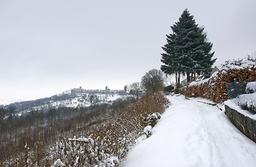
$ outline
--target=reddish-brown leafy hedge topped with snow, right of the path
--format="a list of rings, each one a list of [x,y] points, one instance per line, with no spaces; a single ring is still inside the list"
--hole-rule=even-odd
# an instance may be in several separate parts
[[[244,58],[238,61],[226,61],[218,72],[209,79],[194,81],[179,89],[187,97],[203,97],[216,103],[227,100],[226,83],[256,80],[256,61]]]

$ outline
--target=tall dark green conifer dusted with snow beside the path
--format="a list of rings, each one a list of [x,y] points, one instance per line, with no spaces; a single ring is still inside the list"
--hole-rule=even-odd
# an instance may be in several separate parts
[[[190,76],[206,73],[216,59],[211,59],[212,43],[207,42],[204,28],[195,23],[193,15],[188,9],[184,10],[179,22],[171,26],[172,33],[167,35],[167,44],[162,47],[165,53],[162,55],[161,70],[166,74],[176,74],[176,83],[179,85],[179,75]]]

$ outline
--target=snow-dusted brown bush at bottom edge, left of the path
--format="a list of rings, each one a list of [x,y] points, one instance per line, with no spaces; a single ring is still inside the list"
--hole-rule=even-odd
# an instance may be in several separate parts
[[[58,159],[54,166],[98,166],[112,167],[119,164],[119,159],[106,153],[109,147],[105,142],[96,143],[92,138],[80,137],[63,139],[55,150]]]

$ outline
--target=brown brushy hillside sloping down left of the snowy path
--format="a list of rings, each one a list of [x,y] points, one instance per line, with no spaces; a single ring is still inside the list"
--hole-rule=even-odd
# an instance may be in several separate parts
[[[118,96],[126,97],[112,98]],[[1,109],[0,166],[117,165],[136,138],[145,136],[144,128],[156,124],[167,104],[165,95],[158,92],[139,100],[32,110],[22,116]]]

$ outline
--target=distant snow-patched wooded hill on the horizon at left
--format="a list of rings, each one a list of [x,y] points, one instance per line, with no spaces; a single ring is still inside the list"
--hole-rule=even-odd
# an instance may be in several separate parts
[[[129,96],[130,95],[124,90],[85,90],[82,88],[73,88],[51,97],[0,105],[0,108],[12,109],[15,113],[38,109],[56,109],[60,106],[76,108],[98,103],[112,103],[116,99],[122,99]]]

